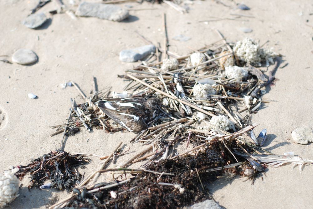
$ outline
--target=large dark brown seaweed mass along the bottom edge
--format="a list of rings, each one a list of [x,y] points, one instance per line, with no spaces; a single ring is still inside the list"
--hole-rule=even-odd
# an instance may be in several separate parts
[[[197,156],[162,160],[147,169],[175,175],[164,174],[158,179],[159,175],[154,173],[139,173],[118,187],[95,193],[81,192],[67,203],[66,208],[181,208],[210,198],[203,191],[199,178],[203,185],[213,182],[223,171],[206,172],[207,169],[224,164],[223,158],[213,150],[199,152]],[[115,198],[110,193],[116,194]]]

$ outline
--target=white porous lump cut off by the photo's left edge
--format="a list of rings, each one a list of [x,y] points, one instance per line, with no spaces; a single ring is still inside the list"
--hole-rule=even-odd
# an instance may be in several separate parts
[[[16,172],[18,168],[0,173],[0,208],[4,208],[18,197],[18,178],[14,175]]]

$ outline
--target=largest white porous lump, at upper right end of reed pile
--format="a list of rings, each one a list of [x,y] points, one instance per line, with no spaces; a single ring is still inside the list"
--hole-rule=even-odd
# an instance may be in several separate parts
[[[261,62],[264,61],[266,62],[266,66],[269,66],[269,63],[274,63],[274,58],[277,56],[273,52],[273,48],[261,48],[252,38],[245,38],[242,41],[238,41],[233,51],[240,60],[254,66],[261,66]]]

